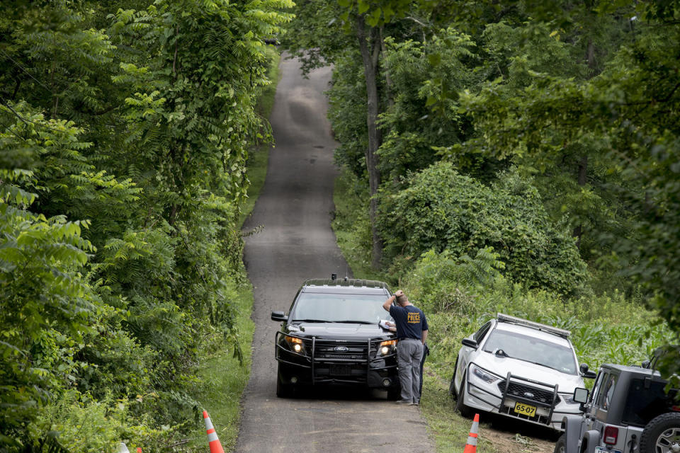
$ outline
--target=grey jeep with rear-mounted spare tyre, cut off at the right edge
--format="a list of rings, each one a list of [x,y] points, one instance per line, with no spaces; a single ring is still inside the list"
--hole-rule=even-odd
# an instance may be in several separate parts
[[[680,407],[659,372],[602,365],[590,393],[574,390],[583,415],[562,420],[555,453],[680,452]]]

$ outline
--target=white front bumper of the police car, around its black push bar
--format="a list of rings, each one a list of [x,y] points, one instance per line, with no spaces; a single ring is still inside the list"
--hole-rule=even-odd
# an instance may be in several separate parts
[[[564,394],[557,392],[557,384],[546,384],[508,373],[499,382],[486,382],[470,372],[475,366],[485,373],[493,375],[472,363],[467,365],[465,379],[465,405],[480,411],[499,413],[509,418],[548,426],[554,430],[562,430],[562,419],[565,415],[580,415],[579,403],[567,403]],[[533,408],[533,415],[517,411],[517,404]]]

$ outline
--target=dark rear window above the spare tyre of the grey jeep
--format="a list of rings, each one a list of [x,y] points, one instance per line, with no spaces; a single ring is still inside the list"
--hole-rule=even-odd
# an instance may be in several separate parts
[[[645,387],[645,379],[632,379],[625,400],[621,420],[627,425],[645,426],[667,408],[664,382],[650,382]]]

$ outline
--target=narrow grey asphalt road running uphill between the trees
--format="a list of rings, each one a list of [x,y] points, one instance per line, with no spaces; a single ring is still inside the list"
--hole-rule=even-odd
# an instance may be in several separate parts
[[[271,115],[276,148],[266,183],[244,230],[244,259],[254,285],[251,377],[243,399],[237,452],[433,452],[416,406],[397,406],[385,392],[314,389],[276,397],[272,310],[288,312],[303,280],[351,276],[331,230],[336,142],[326,117],[331,71],[303,79],[283,59]],[[361,277],[361,276],[358,276]]]

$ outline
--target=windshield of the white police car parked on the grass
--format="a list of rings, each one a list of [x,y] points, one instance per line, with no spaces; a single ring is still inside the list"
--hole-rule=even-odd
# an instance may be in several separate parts
[[[567,346],[521,333],[495,330],[484,345],[484,350],[496,352],[499,349],[514,359],[536,363],[567,374],[576,374],[574,353]]]

